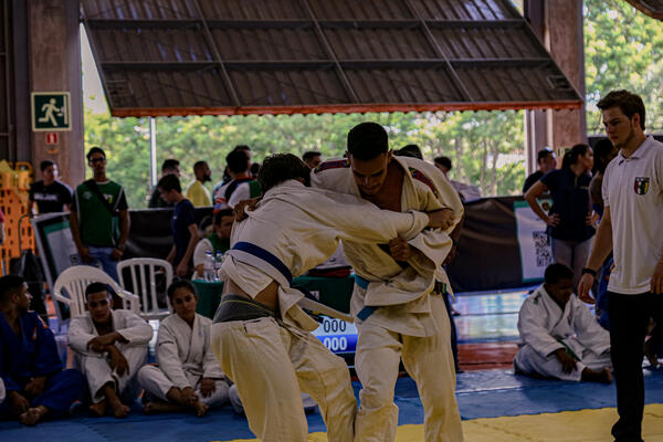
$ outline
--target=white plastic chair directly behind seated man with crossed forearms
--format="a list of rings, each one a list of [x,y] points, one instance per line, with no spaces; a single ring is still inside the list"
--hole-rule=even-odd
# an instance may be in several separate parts
[[[129,308],[139,314],[138,296],[125,291],[108,276],[103,270],[91,265],[74,265],[69,267],[57,276],[55,287],[53,287],[53,297],[70,307],[71,317],[85,313],[85,288],[92,283],[107,284],[122,298],[123,308]],[[65,296],[63,290],[66,292]]]

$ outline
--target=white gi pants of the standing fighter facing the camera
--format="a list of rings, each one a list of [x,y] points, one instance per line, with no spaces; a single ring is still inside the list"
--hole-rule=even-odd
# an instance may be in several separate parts
[[[393,392],[402,358],[417,382],[424,410],[427,442],[463,441],[461,414],[455,400],[455,368],[451,351],[451,329],[444,299],[431,295],[431,309],[438,334],[428,337],[401,335],[370,317],[357,326],[355,369],[361,381],[356,440],[390,442],[396,439],[398,407]]]

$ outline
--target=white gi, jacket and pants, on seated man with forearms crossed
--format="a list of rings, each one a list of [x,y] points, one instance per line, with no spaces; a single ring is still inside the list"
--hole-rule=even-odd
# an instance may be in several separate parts
[[[128,403],[135,401],[140,393],[136,373],[147,361],[147,344],[152,337],[152,329],[145,319],[130,311],[112,311],[110,315],[113,316],[113,329],[128,340],[127,344],[115,343],[129,365],[128,373],[118,376],[110,368],[105,355],[87,348],[87,343],[98,336],[88,313],[71,320],[69,343],[74,350],[74,368],[82,371],[87,379],[92,401],[96,403],[104,400],[102,387],[107,382],[113,382],[120,400]]]

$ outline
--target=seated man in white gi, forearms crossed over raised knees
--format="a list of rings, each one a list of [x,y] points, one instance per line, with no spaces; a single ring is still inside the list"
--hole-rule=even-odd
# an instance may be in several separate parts
[[[85,290],[88,313],[72,319],[69,343],[74,367],[87,380],[92,406],[104,415],[109,407],[124,418],[140,393],[136,373],[147,360],[152,329],[130,311],[113,311],[113,297],[105,284],[92,283]]]

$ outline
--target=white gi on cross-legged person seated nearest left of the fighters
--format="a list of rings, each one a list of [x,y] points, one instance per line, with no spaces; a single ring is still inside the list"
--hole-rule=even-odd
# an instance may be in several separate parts
[[[229,382],[210,348],[212,320],[196,314],[193,326],[172,314],[159,324],[157,361],[159,367],[144,366],[138,371],[143,388],[155,397],[168,401],[166,394],[172,387],[190,387],[199,400],[210,407],[228,402]],[[214,379],[215,390],[206,398],[200,392],[202,378]]]

